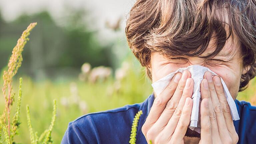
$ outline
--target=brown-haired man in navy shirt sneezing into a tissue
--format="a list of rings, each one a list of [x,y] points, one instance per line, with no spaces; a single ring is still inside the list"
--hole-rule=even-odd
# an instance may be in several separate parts
[[[255,0],[137,0],[126,25],[129,47],[155,82],[179,68],[202,65],[218,74],[235,100],[256,72]],[[142,110],[136,143],[255,143],[256,107],[235,100],[232,121],[219,76],[201,82],[201,133],[188,128],[194,81],[176,73],[144,102],[87,114],[70,122],[62,143],[128,143]]]

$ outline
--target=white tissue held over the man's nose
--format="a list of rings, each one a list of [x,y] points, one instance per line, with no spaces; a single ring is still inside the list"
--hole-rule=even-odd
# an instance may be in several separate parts
[[[172,77],[177,73],[177,72],[183,72],[184,70],[188,70],[191,73],[191,78],[194,80],[194,89],[193,89],[193,94],[192,94],[192,100],[193,100],[193,107],[192,107],[192,113],[191,113],[191,118],[190,118],[190,125],[189,128],[191,130],[194,130],[198,133],[201,132],[201,126],[200,126],[200,102],[201,102],[201,93],[200,93],[200,83],[203,80],[204,73],[206,71],[209,71],[212,73],[212,75],[217,75],[213,71],[211,71],[209,68],[201,66],[201,65],[191,65],[185,68],[179,68],[173,73],[168,74],[167,76],[159,79],[158,81],[154,82],[152,84],[152,87],[156,93],[156,95],[159,95],[170,83]],[[217,75],[218,76],[218,75]],[[223,81],[223,79],[220,77],[221,83],[224,88],[224,94],[227,98],[228,105],[230,107],[230,112],[232,115],[233,120],[239,120],[239,115],[236,109],[236,104],[231,97],[228,88]]]

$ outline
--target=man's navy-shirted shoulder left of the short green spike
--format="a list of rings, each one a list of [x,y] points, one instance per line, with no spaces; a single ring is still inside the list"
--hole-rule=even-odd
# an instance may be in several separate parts
[[[128,143],[132,120],[140,105],[125,105],[83,115],[68,124],[62,144]]]

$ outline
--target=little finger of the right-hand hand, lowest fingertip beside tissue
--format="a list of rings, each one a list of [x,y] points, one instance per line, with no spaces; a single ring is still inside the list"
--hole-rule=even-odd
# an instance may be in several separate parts
[[[201,119],[201,144],[212,144],[212,126],[209,114],[209,102],[204,98],[200,106],[200,119]]]

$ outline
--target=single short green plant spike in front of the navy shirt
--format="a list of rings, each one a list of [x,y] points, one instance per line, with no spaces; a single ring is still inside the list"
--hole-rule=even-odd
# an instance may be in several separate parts
[[[140,111],[138,111],[138,113],[133,118],[132,130],[131,130],[130,141],[129,141],[130,144],[135,144],[135,142],[136,142],[138,122],[139,122],[140,116],[142,114],[143,114],[142,110],[140,110]]]

